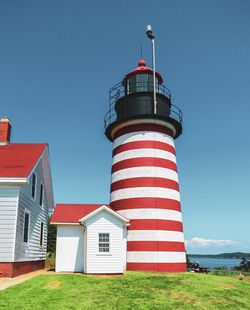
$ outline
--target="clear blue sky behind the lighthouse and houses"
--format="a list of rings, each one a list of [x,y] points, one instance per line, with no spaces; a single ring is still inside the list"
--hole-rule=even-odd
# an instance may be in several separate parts
[[[1,1],[0,116],[50,147],[56,203],[108,203],[108,89],[137,66],[145,28],[184,114],[176,141],[189,253],[250,252],[250,2]]]

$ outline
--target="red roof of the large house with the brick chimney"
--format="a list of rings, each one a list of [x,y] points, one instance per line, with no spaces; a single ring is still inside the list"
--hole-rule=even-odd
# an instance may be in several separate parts
[[[26,178],[47,144],[0,145],[0,178]]]

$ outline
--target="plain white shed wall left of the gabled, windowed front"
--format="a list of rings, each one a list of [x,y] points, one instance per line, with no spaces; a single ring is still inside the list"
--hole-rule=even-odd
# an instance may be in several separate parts
[[[56,272],[84,272],[82,226],[57,226]]]

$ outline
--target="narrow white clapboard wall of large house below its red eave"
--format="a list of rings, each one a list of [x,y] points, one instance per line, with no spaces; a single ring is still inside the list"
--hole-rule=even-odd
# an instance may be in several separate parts
[[[0,262],[13,262],[18,187],[0,187]]]

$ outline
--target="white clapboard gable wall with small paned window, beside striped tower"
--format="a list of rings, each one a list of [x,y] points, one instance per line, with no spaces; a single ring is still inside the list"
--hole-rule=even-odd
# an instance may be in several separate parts
[[[105,210],[91,217],[87,226],[86,273],[122,273],[123,223]],[[99,233],[110,234],[110,253],[99,253]]]

